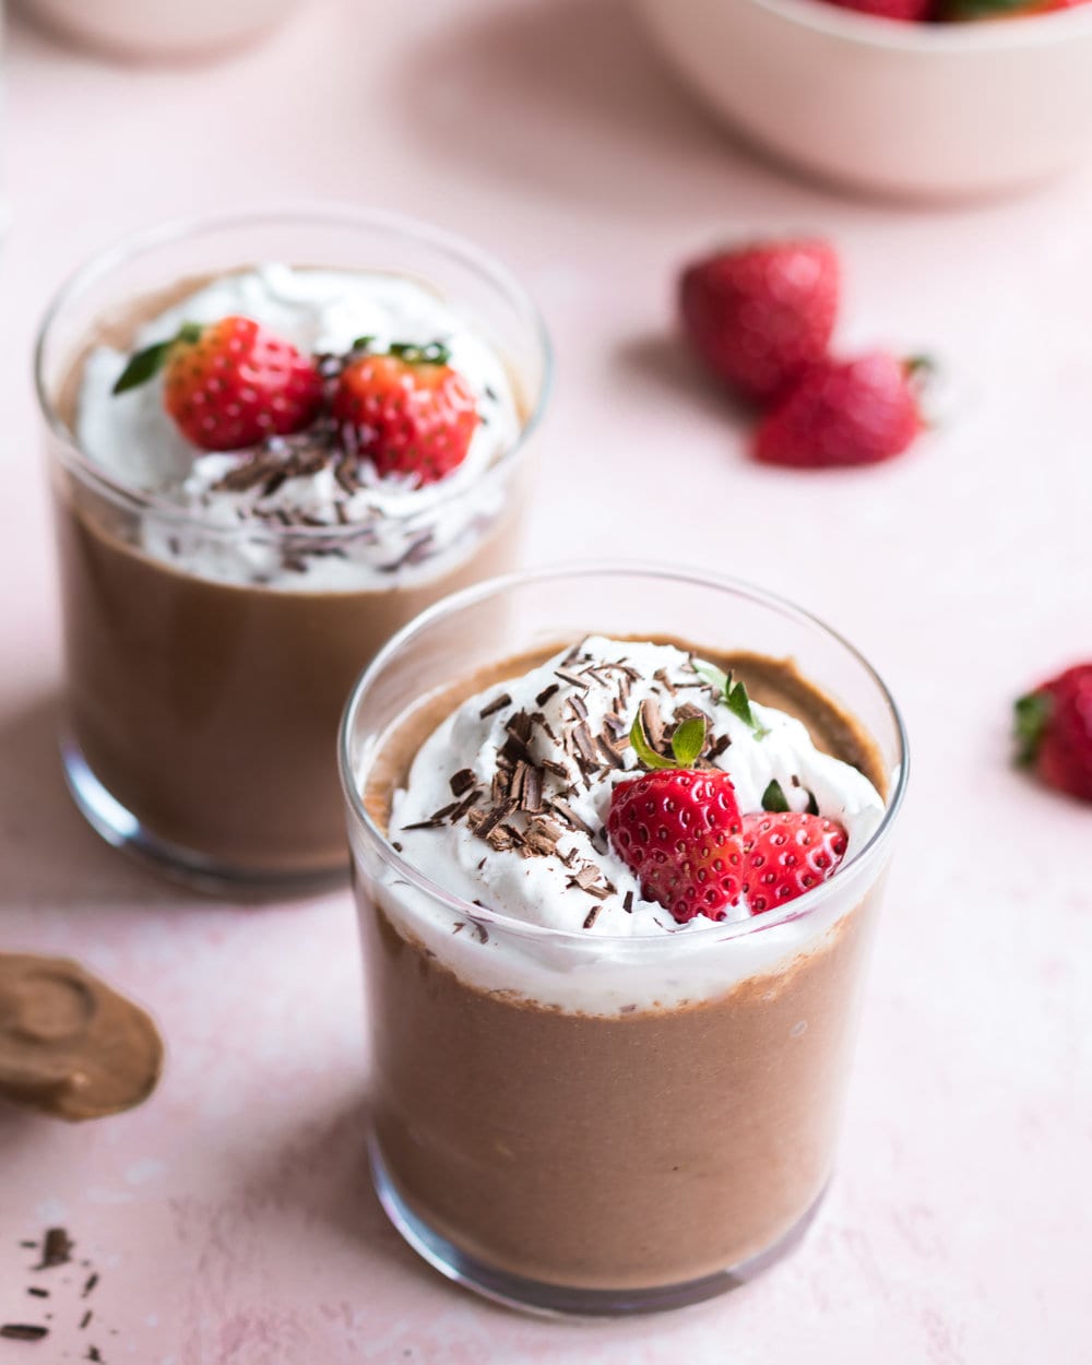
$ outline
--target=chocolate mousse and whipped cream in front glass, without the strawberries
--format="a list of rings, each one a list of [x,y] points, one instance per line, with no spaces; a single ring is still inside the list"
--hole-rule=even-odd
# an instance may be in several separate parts
[[[763,928],[743,902],[718,910],[728,932],[676,923],[627,885],[588,803],[648,766],[632,753],[635,710],[637,743],[662,768],[672,733],[700,719],[695,773],[729,768],[741,811],[762,800],[804,822],[816,796],[826,816],[841,792],[850,870],[886,789],[870,736],[792,662],[678,646],[650,693],[650,648],[586,640],[479,672],[408,711],[363,775],[393,850],[468,906],[456,916],[359,863],[379,1183],[400,1219],[453,1248],[460,1278],[538,1306],[685,1302],[704,1297],[687,1286],[745,1278],[792,1244],[830,1175],[875,915],[875,878],[849,871],[799,920],[771,915]],[[723,695],[695,654],[728,674]],[[528,676],[541,684],[530,702]],[[446,752],[430,744],[479,733],[474,717],[497,719],[494,752],[445,774],[449,801],[422,819],[407,794],[426,755]],[[430,853],[430,838],[457,838],[456,853]],[[508,871],[471,897],[501,859]],[[545,863],[561,864],[560,880]],[[557,913],[547,886],[562,887]],[[528,938],[517,915],[565,924],[565,942]]]

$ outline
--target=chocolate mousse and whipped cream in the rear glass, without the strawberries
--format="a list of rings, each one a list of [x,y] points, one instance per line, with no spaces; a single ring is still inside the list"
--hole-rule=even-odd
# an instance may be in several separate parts
[[[277,427],[261,446],[206,453],[186,438],[192,420],[175,412],[175,430],[160,411],[177,374],[162,400],[160,378],[109,394],[149,341],[182,345],[197,314],[205,345],[213,319],[243,307],[265,307],[318,345],[339,334],[332,344],[349,351],[314,359],[328,396],[373,349],[385,359],[388,341],[399,362],[412,351],[437,371],[448,351],[433,333],[446,319],[450,364],[472,370],[478,430],[465,464],[418,486],[411,449],[377,472],[356,437],[345,444],[349,425],[329,404],[300,434]],[[345,340],[354,307],[359,330],[378,340]],[[113,842],[240,880],[344,874],[333,752],[352,680],[423,607],[516,557],[530,470],[513,450],[534,396],[444,307],[408,278],[247,268],[141,296],[85,336],[51,396],[78,450],[59,449],[55,461],[66,766],[85,814]]]

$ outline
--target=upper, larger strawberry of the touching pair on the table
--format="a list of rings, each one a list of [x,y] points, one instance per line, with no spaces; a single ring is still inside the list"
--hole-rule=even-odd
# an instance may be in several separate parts
[[[766,401],[826,355],[839,284],[838,257],[826,242],[719,251],[682,274],[682,326],[714,374]]]

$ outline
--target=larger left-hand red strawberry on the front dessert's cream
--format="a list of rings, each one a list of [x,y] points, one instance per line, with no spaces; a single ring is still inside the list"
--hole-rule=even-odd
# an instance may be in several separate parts
[[[722,920],[740,898],[740,808],[726,773],[669,768],[620,782],[607,833],[646,900],[678,924]]]

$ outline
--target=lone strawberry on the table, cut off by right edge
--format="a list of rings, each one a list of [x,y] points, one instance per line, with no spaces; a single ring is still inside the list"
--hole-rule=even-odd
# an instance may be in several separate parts
[[[1018,758],[1048,785],[1092,801],[1092,663],[1077,663],[1016,703]]]

